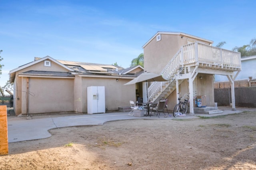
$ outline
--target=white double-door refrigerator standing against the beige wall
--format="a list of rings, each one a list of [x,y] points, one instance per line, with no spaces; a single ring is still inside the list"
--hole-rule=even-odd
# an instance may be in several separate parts
[[[87,113],[105,113],[105,86],[87,87]]]

